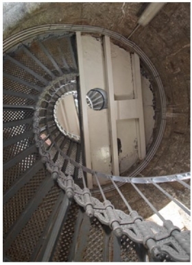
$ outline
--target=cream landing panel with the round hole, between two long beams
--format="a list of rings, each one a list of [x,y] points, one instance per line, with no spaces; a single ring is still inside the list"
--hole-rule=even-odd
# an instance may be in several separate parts
[[[106,90],[104,51],[101,39],[82,36],[85,90]],[[90,132],[91,166],[104,173],[111,172],[108,110],[95,111],[87,106]]]

